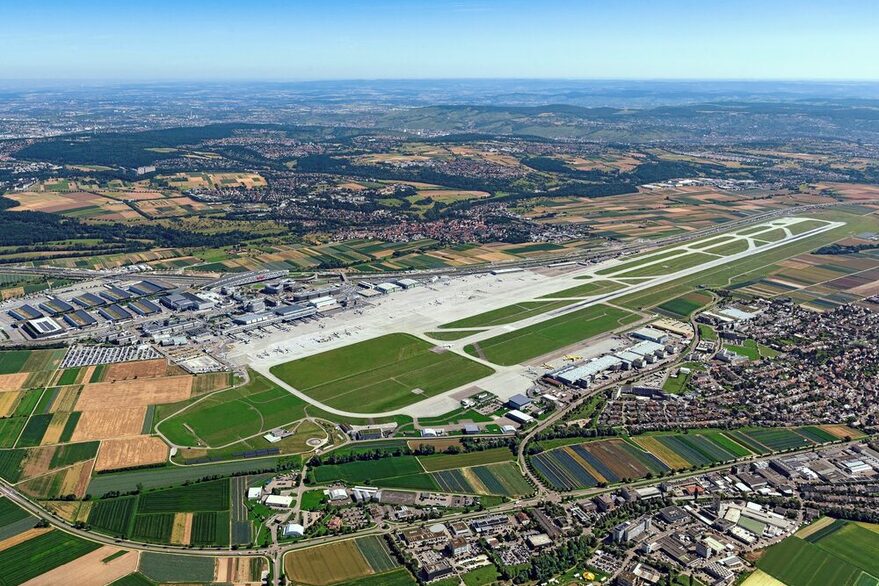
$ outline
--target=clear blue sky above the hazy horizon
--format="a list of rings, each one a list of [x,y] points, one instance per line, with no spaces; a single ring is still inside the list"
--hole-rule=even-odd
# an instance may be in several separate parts
[[[879,79],[876,0],[0,0],[0,79]]]

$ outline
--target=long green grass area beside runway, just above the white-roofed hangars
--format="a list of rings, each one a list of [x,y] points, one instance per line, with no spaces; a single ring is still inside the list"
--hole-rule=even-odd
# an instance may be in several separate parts
[[[494,336],[467,346],[465,351],[495,364],[511,366],[609,332],[636,319],[638,316],[634,313],[596,305]]]

